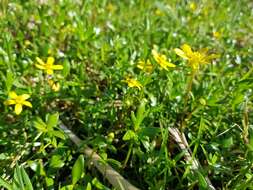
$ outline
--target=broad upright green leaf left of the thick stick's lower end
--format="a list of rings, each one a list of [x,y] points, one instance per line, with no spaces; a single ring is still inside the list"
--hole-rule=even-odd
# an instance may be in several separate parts
[[[72,184],[76,184],[84,172],[84,157],[81,154],[72,168]]]

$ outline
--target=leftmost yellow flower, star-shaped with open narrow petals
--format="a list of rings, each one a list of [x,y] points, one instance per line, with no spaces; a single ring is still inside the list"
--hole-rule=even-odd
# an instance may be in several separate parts
[[[32,104],[28,101],[26,101],[28,98],[30,98],[29,94],[22,94],[18,96],[15,92],[11,91],[9,93],[8,100],[4,101],[5,105],[15,105],[14,112],[19,115],[22,112],[23,105],[32,107]]]

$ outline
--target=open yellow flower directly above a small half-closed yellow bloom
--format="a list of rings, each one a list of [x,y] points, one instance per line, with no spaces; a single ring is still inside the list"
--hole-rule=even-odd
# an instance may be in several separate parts
[[[54,70],[62,70],[63,69],[62,65],[54,65],[54,58],[53,57],[48,57],[46,63],[44,63],[44,61],[42,61],[38,57],[36,57],[36,60],[38,61],[39,64],[35,64],[35,66],[38,69],[45,70],[45,72],[48,75],[54,74]]]

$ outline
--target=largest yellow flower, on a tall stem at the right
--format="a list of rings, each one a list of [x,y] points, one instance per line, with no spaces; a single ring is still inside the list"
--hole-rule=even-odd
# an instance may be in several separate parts
[[[200,65],[207,64],[212,59],[219,57],[216,54],[207,55],[207,49],[192,51],[191,47],[187,44],[182,45],[181,49],[175,48],[174,51],[178,56],[188,60],[193,70],[198,70]]]

